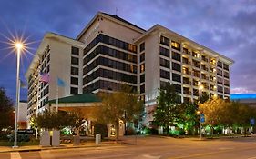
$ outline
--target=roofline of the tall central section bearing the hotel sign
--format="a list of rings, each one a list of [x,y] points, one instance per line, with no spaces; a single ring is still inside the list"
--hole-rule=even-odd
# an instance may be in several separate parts
[[[141,34],[143,34],[143,33],[146,32],[146,30],[144,30],[144,29],[142,29],[142,28],[140,28],[140,27],[138,27],[138,26],[135,27],[134,25],[128,25],[127,23],[124,23],[124,22],[122,22],[122,21],[120,21],[120,20],[118,20],[118,19],[115,19],[115,18],[113,18],[113,17],[111,17],[111,16],[109,16],[109,15],[106,15],[106,14],[104,14],[103,12],[97,12],[97,15],[95,15],[95,16],[90,20],[90,22],[86,25],[86,27],[82,30],[82,32],[80,32],[79,35],[77,35],[76,40],[79,40],[79,39],[81,38],[81,36],[84,35],[84,34],[87,32],[88,28],[95,22],[95,20],[97,19],[98,16],[102,16],[102,17],[105,17],[105,18],[107,18],[107,19],[109,19],[109,20],[112,20],[112,21],[114,21],[114,22],[118,22],[119,24],[128,26],[128,27],[130,27],[130,28],[132,28],[132,29],[138,31],[138,32],[141,33]],[[140,28],[140,29],[139,29],[139,28]]]

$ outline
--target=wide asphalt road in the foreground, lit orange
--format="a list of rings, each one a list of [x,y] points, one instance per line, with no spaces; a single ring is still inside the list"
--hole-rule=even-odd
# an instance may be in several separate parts
[[[123,144],[104,147],[0,153],[0,159],[256,159],[256,137],[200,141],[195,138],[125,138]]]

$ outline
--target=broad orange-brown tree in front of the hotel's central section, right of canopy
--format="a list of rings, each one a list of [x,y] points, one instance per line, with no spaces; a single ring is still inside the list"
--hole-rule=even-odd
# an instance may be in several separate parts
[[[98,123],[115,126],[118,141],[119,122],[134,122],[142,111],[143,104],[138,100],[138,94],[124,84],[118,92],[102,94],[102,104],[97,105],[95,114]]]

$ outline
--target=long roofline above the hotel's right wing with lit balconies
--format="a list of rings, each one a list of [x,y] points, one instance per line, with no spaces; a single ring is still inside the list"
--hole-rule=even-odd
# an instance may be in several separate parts
[[[154,26],[152,26],[150,29],[148,29],[148,31],[147,31],[146,33],[144,33],[143,35],[139,36],[139,37],[135,40],[134,43],[139,43],[142,38],[148,36],[149,34],[151,34],[151,33],[152,33],[153,31],[155,31],[155,30],[167,31],[167,32],[169,32],[169,33],[172,34],[172,35],[178,36],[179,38],[181,38],[181,40],[184,40],[185,42],[186,42],[186,41],[189,42],[189,44],[191,44],[191,45],[198,45],[198,46],[200,46],[202,49],[206,50],[207,52],[213,53],[214,55],[218,55],[218,56],[224,58],[225,60],[229,61],[230,64],[233,64],[233,63],[234,63],[234,60],[230,59],[229,57],[227,57],[227,56],[225,56],[225,55],[220,55],[219,53],[217,53],[217,52],[211,50],[210,48],[208,48],[208,47],[206,47],[206,46],[204,46],[204,45],[200,45],[200,44],[198,44],[197,42],[195,42],[195,41],[193,41],[193,40],[190,40],[189,38],[187,38],[187,37],[185,37],[185,36],[183,36],[183,35],[179,35],[178,33],[173,32],[173,31],[169,30],[168,28],[166,28],[166,27],[164,27],[164,26],[162,26],[162,25],[159,25],[159,24],[154,25]]]

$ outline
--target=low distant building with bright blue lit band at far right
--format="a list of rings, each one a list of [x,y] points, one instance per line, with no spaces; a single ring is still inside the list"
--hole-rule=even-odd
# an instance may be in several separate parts
[[[230,94],[230,100],[256,107],[256,94]]]

